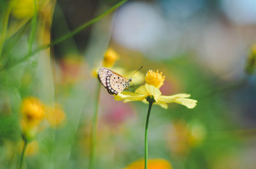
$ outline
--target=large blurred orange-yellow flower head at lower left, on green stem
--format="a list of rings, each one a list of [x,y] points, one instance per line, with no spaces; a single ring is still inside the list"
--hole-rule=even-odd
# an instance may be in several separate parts
[[[26,139],[33,138],[38,132],[38,126],[45,117],[44,105],[37,98],[26,98],[22,101],[21,126]]]

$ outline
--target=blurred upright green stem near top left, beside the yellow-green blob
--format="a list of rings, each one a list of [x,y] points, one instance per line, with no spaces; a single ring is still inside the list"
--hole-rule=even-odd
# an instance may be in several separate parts
[[[32,47],[33,47],[33,42],[35,40],[35,34],[36,34],[36,20],[37,20],[37,6],[36,6],[36,0],[34,0],[34,16],[31,21],[31,31],[29,34],[29,39],[28,39],[28,55],[27,58],[30,57],[31,52],[32,52]]]

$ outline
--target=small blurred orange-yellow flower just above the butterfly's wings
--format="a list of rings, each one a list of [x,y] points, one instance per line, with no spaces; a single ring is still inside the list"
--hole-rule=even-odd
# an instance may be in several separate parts
[[[118,54],[113,50],[113,48],[108,48],[108,50],[104,54],[104,59],[102,62],[102,66],[106,68],[112,68],[118,59]]]

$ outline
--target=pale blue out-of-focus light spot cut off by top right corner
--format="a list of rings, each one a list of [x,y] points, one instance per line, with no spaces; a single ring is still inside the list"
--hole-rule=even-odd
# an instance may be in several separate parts
[[[227,17],[238,25],[256,24],[255,0],[221,0]]]

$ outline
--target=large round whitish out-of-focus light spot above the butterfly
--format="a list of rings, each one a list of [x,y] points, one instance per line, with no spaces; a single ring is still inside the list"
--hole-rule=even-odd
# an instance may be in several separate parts
[[[155,6],[127,3],[116,15],[113,39],[125,47],[145,51],[158,43],[163,23]]]

